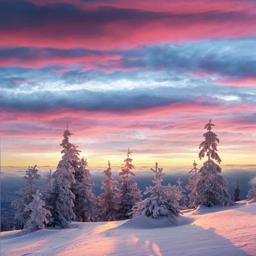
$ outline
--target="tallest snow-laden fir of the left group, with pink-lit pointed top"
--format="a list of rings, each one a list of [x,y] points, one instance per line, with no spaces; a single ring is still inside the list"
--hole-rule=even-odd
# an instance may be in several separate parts
[[[65,130],[61,146],[62,159],[59,161],[56,171],[52,174],[53,184],[50,196],[50,209],[52,213],[52,225],[59,228],[69,228],[72,220],[76,219],[73,212],[73,200],[75,196],[71,192],[71,185],[75,183],[75,169],[71,165],[76,160],[77,147],[69,143],[72,134]]]

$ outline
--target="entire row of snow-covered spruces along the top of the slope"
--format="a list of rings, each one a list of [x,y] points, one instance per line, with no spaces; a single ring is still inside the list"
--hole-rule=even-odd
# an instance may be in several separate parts
[[[108,161],[105,171],[102,173],[105,180],[102,181],[102,194],[98,197],[93,193],[93,176],[88,169],[87,159],[80,157],[78,146],[70,143],[73,135],[68,127],[63,133],[62,158],[55,172],[51,172],[44,180],[44,186],[38,187],[36,182],[41,178],[37,166],[26,170],[23,179],[26,184],[17,191],[21,198],[12,202],[17,207],[15,218],[16,226],[1,216],[1,231],[26,229],[26,233],[44,229],[44,227],[69,228],[71,221],[116,221],[132,218],[137,215],[146,215],[151,218],[165,216],[169,221],[176,222],[184,209],[196,209],[199,205],[212,207],[231,206],[235,201],[240,201],[239,178],[233,199],[227,192],[227,180],[221,176],[221,158],[217,153],[219,139],[212,132],[215,126],[209,120],[205,125],[206,133],[204,141],[199,145],[200,160],[207,157],[201,169],[197,168],[194,161],[193,169],[189,171],[188,184],[185,188],[191,191],[186,198],[183,192],[183,181],[177,180],[177,186],[161,185],[163,168],[155,164],[155,186],[147,186],[144,194],[151,193],[149,198],[142,201],[141,190],[138,188],[134,165],[132,164],[132,151],[128,148],[127,157],[121,166],[119,180],[112,177],[111,163]],[[250,189],[247,195],[248,201],[256,202],[256,188]],[[188,200],[188,204],[186,201]]]

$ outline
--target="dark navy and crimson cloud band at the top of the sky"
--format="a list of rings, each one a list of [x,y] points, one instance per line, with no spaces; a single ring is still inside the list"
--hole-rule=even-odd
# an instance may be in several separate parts
[[[25,1],[1,1],[0,46],[114,50],[252,37],[256,35],[256,14],[255,8],[247,9],[248,6],[255,7],[255,3],[244,2],[244,8],[238,10],[221,11],[217,5],[199,12],[189,12],[187,8],[185,13],[179,13],[171,9],[156,12],[100,5],[80,9],[66,3],[37,6]]]

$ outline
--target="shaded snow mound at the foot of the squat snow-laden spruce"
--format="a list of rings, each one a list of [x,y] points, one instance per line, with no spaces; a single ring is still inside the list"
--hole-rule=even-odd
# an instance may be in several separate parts
[[[145,215],[135,216],[134,218],[126,221],[118,228],[131,228],[131,229],[152,229],[152,228],[164,228],[164,227],[176,227],[177,225],[186,225],[193,222],[192,218],[180,216],[177,220],[177,224],[169,221],[166,217],[160,217],[157,219],[147,217]]]

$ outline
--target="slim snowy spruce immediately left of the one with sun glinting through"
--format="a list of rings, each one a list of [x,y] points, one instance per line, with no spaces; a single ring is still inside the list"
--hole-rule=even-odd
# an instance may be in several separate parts
[[[116,221],[118,216],[118,202],[116,200],[117,181],[112,177],[111,164],[108,161],[108,168],[102,172],[107,179],[102,181],[101,189],[105,189],[105,193],[99,195],[99,204],[103,207],[103,212],[99,213],[100,221]]]

